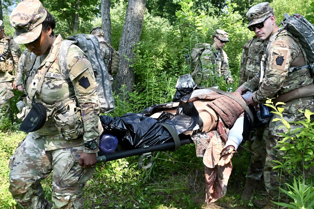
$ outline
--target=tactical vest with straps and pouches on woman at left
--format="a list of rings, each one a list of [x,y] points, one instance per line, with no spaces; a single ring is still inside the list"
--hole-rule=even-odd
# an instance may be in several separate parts
[[[59,45],[61,45],[61,42]],[[30,54],[30,53],[29,53]],[[22,111],[17,115],[18,118],[24,120],[26,115],[29,113],[30,108],[32,107],[32,97],[37,97],[39,101],[37,103],[40,103],[44,105],[44,107],[47,110],[47,120],[44,124],[44,126],[35,131],[37,134],[40,135],[53,135],[53,134],[61,134],[65,140],[73,140],[77,139],[78,137],[81,137],[84,134],[84,128],[83,128],[83,120],[82,120],[82,113],[80,111],[80,108],[77,106],[77,100],[76,98],[73,98],[71,95],[74,93],[73,88],[68,88],[68,84],[66,84],[66,87],[63,89],[71,89],[69,92],[69,98],[63,98],[63,100],[60,100],[60,102],[65,106],[67,109],[66,113],[58,113],[58,110],[56,108],[56,104],[54,103],[52,105],[49,105],[45,103],[42,99],[41,95],[41,87],[45,82],[45,75],[49,71],[51,67],[59,67],[59,52],[57,52],[54,56],[54,60],[50,62],[45,62],[45,64],[40,64],[40,66],[34,67],[35,61],[37,56],[32,54],[32,59],[29,62],[27,66],[27,70],[25,73],[25,78],[24,78],[24,92],[26,94],[26,97],[24,97],[23,102],[24,104],[27,104]],[[27,82],[30,81],[30,75],[31,74],[36,74],[36,72],[40,70],[42,71],[42,76],[38,82],[38,85],[33,91],[29,92],[29,85],[25,87]],[[60,73],[62,71],[58,69]],[[63,76],[63,75],[62,75]],[[57,82],[57,81],[56,81]],[[64,82],[66,83],[66,82]],[[26,89],[27,88],[27,89]],[[59,90],[62,90],[60,88]],[[47,92],[45,93],[47,94]],[[65,115],[63,115],[65,114]]]

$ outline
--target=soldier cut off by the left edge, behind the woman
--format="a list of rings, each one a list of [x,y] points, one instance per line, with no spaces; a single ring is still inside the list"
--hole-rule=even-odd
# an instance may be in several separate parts
[[[14,97],[13,88],[18,69],[21,50],[12,36],[4,33],[3,21],[0,20],[0,124],[10,116],[10,100]],[[15,73],[15,74],[14,74]]]

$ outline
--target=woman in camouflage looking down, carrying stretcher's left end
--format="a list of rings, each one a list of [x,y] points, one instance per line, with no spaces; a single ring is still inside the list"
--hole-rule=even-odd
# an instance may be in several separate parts
[[[47,116],[10,158],[9,191],[23,208],[51,208],[53,204],[54,208],[82,209],[82,189],[95,170],[103,130],[91,63],[78,46],[69,47],[66,61],[73,85],[69,86],[59,67],[59,62],[65,62],[58,56],[62,37],[54,35],[56,22],[40,1],[20,2],[10,22],[15,28],[14,40],[36,55],[25,74],[25,107],[19,116],[29,118],[25,115],[33,102],[43,105]],[[40,182],[52,170],[51,204]]]

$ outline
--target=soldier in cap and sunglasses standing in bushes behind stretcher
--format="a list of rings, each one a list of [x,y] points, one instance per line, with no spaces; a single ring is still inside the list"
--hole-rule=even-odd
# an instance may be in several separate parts
[[[201,55],[204,77],[209,78],[210,74],[216,74],[225,78],[227,84],[234,81],[231,78],[227,54],[222,49],[229,41],[228,36],[229,34],[224,30],[216,29],[212,36],[214,39],[212,47],[206,48]],[[214,64],[216,68],[212,69],[211,66]]]

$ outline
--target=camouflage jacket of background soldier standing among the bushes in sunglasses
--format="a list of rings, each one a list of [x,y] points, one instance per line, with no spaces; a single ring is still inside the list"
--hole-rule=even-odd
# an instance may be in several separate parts
[[[214,46],[210,49],[205,49],[201,55],[201,62],[203,67],[203,74],[205,77],[209,74],[208,70],[211,65],[216,64],[216,69],[213,74],[218,74],[223,76],[226,80],[231,78],[231,73],[229,71],[228,57],[223,49],[215,49]]]

